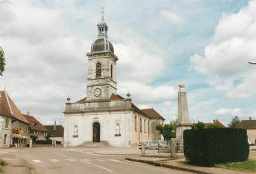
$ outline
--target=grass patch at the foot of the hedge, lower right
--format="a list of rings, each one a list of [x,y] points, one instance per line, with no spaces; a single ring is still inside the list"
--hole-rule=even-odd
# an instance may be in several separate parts
[[[248,159],[244,162],[220,163],[216,164],[215,167],[256,173],[256,160]]]

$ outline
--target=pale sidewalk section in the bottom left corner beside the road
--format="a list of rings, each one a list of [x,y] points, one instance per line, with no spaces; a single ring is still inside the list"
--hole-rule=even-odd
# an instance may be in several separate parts
[[[0,154],[0,158],[5,160],[5,174],[32,174],[32,168],[24,160],[12,154]]]

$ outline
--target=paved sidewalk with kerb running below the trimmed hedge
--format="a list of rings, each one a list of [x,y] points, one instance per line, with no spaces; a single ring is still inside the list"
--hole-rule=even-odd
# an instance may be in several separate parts
[[[171,169],[178,169],[182,171],[189,171],[192,173],[202,173],[202,174],[251,174],[242,171],[233,171],[229,169],[220,169],[216,167],[200,167],[197,165],[188,165],[185,163],[185,159],[179,160],[170,160],[168,158],[125,158],[125,160],[133,161],[133,162],[141,162],[148,163],[150,165],[156,165],[160,167],[167,167]]]

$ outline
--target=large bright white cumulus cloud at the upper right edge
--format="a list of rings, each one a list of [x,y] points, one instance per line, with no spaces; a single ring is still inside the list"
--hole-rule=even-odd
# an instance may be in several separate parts
[[[208,83],[228,98],[246,98],[256,93],[256,1],[234,14],[223,14],[212,41],[203,54],[191,56],[197,72],[207,74]]]

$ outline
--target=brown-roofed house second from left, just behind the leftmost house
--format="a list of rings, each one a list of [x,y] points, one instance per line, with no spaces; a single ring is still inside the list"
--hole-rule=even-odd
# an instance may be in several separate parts
[[[29,131],[30,138],[35,142],[36,140],[46,141],[49,135],[48,129],[40,121],[36,120],[34,116],[30,116],[29,112],[25,115],[23,114],[26,120],[30,122]]]

